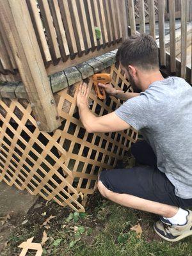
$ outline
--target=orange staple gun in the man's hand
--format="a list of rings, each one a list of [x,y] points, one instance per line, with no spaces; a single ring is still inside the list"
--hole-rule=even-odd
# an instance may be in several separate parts
[[[111,82],[111,75],[106,73],[101,74],[95,74],[93,75],[93,84],[95,87],[95,92],[97,94],[97,97],[99,97],[100,100],[106,99],[106,91],[104,88],[100,87],[98,84],[108,84]]]

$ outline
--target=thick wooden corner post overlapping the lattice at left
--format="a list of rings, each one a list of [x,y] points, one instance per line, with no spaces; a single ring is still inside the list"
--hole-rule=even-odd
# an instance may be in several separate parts
[[[60,119],[26,1],[0,0],[0,26],[19,68],[41,131],[51,132]]]

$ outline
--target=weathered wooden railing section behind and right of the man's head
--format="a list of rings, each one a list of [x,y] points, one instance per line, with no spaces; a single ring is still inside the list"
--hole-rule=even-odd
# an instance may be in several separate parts
[[[191,0],[169,0],[168,12],[170,13],[170,53],[165,51],[164,42],[164,20],[165,20],[165,1],[158,0],[148,0],[148,18],[149,18],[149,28],[150,35],[156,39],[156,8],[155,3],[157,3],[158,9],[158,26],[159,26],[159,61],[161,69],[164,70],[168,75],[176,74],[192,84],[192,68],[187,67],[187,17],[189,8],[192,9]],[[180,3],[180,4],[179,4]],[[145,32],[145,1],[138,1],[138,10],[140,10],[140,31]],[[175,13],[180,8],[180,22],[181,22],[181,36],[180,36],[180,61],[177,60],[175,54]],[[176,11],[175,11],[176,10]],[[129,12],[129,22],[130,22],[130,34],[136,33],[136,17],[134,12],[134,0],[128,1],[128,12]],[[191,44],[192,48],[192,44]],[[191,60],[192,61],[192,60]]]

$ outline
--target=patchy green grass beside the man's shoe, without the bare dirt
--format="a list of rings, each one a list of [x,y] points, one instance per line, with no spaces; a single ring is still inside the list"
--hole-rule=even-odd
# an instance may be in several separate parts
[[[49,240],[43,246],[43,255],[47,256],[191,256],[192,237],[177,242],[169,243],[158,237],[152,225],[157,217],[141,211],[127,209],[126,207],[113,204],[100,199],[99,205],[89,211],[86,216],[79,218],[68,218],[70,211],[65,214],[66,209],[55,203],[51,203],[52,209],[60,212],[56,218],[49,223],[50,228],[46,230]],[[44,209],[42,209],[42,212]],[[51,213],[48,214],[48,217]],[[37,214],[37,216],[40,214]],[[63,217],[62,217],[63,216]],[[72,216],[72,214],[71,214]],[[47,218],[47,216],[45,217]],[[28,216],[28,219],[29,216]],[[34,236],[34,242],[40,243],[42,232],[40,228],[42,217],[35,219],[24,227],[14,228],[12,236],[9,237],[8,246],[3,256],[19,255],[17,246]],[[130,228],[140,223],[143,233],[141,238]],[[81,239],[76,241],[72,248],[69,247],[75,241],[74,227],[81,228]],[[125,241],[118,243],[119,236],[124,236]],[[28,255],[35,255],[30,252]]]

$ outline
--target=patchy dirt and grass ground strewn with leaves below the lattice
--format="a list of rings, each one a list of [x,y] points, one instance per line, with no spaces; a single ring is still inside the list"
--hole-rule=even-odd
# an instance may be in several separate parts
[[[125,159],[124,166],[131,164]],[[192,237],[179,243],[163,241],[152,228],[157,219],[109,202],[99,191],[88,197],[86,212],[80,214],[39,198],[26,214],[0,221],[0,236],[8,231],[0,255],[19,256],[19,244],[34,237],[47,256],[191,256]]]

